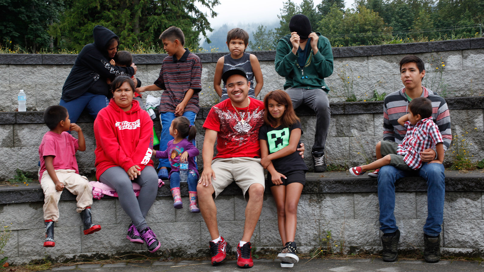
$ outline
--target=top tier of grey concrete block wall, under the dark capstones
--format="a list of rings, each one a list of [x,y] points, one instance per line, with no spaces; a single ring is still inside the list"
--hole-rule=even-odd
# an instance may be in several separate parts
[[[274,69],[275,51],[252,52],[260,61],[264,87],[259,95],[283,89],[284,77]],[[226,53],[197,53],[202,61],[202,91],[200,106],[209,107],[219,102],[213,90],[215,64]],[[398,62],[408,54],[415,54],[425,62],[424,86],[447,97],[482,95],[484,91],[484,38],[437,41],[397,45],[372,45],[333,48],[334,72],[327,83],[331,102],[343,102],[354,94],[364,100],[390,93],[403,87]],[[136,76],[143,85],[152,84],[160,73],[166,54],[135,54]],[[76,55],[0,54],[0,111],[17,108],[20,89],[27,95],[29,110],[45,110],[57,105],[62,86],[71,71]],[[445,65],[445,66],[442,66]],[[439,68],[439,69],[436,69]],[[150,92],[159,96],[161,91]]]

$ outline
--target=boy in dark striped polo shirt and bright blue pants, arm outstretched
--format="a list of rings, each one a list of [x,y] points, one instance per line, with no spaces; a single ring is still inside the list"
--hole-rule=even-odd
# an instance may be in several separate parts
[[[166,149],[168,141],[172,140],[169,128],[171,121],[177,116],[184,116],[194,125],[200,106],[198,92],[202,90],[202,63],[197,55],[184,48],[185,36],[177,27],[169,27],[160,35],[163,49],[168,56],[163,60],[160,76],[148,86],[137,88],[139,92],[161,91],[160,121],[162,131],[160,135],[160,151]],[[195,139],[193,144],[196,146]],[[158,177],[168,178],[168,159],[159,159]]]

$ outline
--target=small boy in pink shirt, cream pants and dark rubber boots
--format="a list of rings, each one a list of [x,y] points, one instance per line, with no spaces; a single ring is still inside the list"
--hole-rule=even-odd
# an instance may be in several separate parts
[[[84,234],[91,234],[101,226],[91,222],[92,187],[86,177],[79,175],[76,151],[85,151],[86,142],[81,128],[71,124],[63,106],[50,106],[44,112],[44,122],[50,129],[39,146],[39,181],[44,191],[45,247],[55,246],[54,222],[59,220],[57,204],[62,190],[67,188],[76,195],[77,212],[81,214]],[[67,131],[77,132],[77,140]]]

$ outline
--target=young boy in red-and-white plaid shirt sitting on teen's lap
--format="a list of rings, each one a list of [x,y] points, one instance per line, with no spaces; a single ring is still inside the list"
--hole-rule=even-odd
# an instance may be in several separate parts
[[[402,143],[378,142],[377,160],[368,165],[350,168],[349,172],[353,176],[361,176],[367,170],[377,169],[368,175],[378,177],[378,169],[386,165],[395,166],[405,171],[418,170],[422,167],[420,152],[429,148],[437,150],[437,158],[429,164],[442,164],[444,160],[444,140],[440,135],[439,127],[432,119],[432,102],[426,97],[417,97],[408,104],[408,112],[398,119],[398,123],[407,128],[407,134]]]

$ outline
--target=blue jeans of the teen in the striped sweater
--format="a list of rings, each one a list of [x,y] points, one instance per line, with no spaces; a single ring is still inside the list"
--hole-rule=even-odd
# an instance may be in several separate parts
[[[423,163],[422,168],[410,172],[394,166],[383,166],[378,173],[378,202],[380,206],[380,230],[391,233],[398,229],[395,222],[395,181],[409,176],[424,178],[427,181],[427,220],[423,233],[437,236],[442,231],[445,196],[444,166],[438,163]]]

